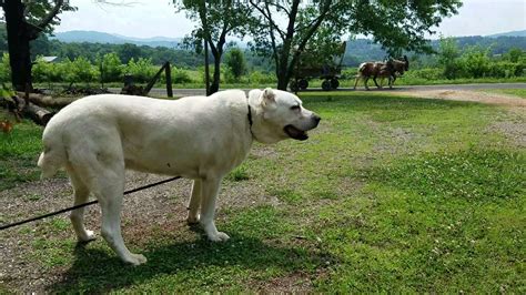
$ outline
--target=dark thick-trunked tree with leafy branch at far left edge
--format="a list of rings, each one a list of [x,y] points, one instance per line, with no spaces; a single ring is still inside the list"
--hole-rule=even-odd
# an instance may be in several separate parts
[[[11,65],[11,82],[19,91],[31,84],[31,54],[30,41],[38,38],[42,31],[51,31],[51,27],[58,23],[54,17],[64,10],[74,10],[64,0],[49,1],[24,1],[9,0],[0,1],[3,8],[9,58]]]

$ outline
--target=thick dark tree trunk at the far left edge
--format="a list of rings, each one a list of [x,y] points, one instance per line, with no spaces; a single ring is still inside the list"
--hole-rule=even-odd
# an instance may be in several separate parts
[[[3,4],[6,27],[8,32],[9,63],[11,65],[11,82],[16,90],[30,91],[31,84],[31,54],[29,41],[32,30],[28,28],[23,17],[24,6],[20,0],[9,0]]]

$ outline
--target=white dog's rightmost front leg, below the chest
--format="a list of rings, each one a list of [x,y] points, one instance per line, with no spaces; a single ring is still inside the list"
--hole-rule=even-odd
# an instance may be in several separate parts
[[[201,180],[201,217],[200,224],[212,242],[226,241],[230,236],[218,232],[214,223],[215,200],[221,184],[221,177]]]

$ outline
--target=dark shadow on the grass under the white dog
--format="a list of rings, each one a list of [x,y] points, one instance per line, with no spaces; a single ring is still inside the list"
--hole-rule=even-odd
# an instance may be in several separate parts
[[[146,287],[161,284],[164,288],[168,284],[172,285],[168,287],[170,291],[184,291],[178,289],[179,283],[193,281],[196,284],[193,291],[200,287],[235,289],[240,286],[246,289],[253,287],[246,285],[251,277],[260,281],[262,276],[270,278],[276,274],[305,273],[307,269],[325,267],[327,261],[335,262],[334,257],[317,248],[307,251],[303,247],[271,245],[255,237],[236,234],[226,243],[211,243],[200,238],[194,242],[152,245],[141,253],[148,257],[148,263],[133,267],[124,265],[112,252],[79,244],[74,250],[72,266],[45,292],[107,293],[141,284]],[[273,271],[267,273],[267,269]],[[162,281],[163,277],[168,283],[152,283],[155,279]],[[229,279],[232,279],[231,284]]]

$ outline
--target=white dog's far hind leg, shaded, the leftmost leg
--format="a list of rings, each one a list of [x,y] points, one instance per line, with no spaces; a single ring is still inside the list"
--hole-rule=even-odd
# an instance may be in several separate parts
[[[80,205],[88,202],[90,190],[82,182],[81,177],[74,172],[73,167],[68,164],[65,166],[70,176],[71,185],[73,185],[74,202],[73,205]],[[75,208],[70,214],[71,224],[80,242],[89,242],[95,238],[92,231],[84,227],[84,207]]]

